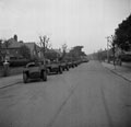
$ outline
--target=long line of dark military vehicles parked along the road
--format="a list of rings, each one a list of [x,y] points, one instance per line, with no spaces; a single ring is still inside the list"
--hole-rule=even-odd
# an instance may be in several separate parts
[[[62,60],[62,61],[34,61],[28,62],[23,70],[23,81],[27,83],[32,79],[41,79],[47,81],[47,76],[50,73],[62,73],[64,70],[78,67],[82,62],[88,62],[86,59],[81,60]]]

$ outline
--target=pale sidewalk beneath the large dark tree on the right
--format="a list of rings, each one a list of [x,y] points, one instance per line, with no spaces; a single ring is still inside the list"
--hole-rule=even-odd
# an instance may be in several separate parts
[[[115,67],[112,64],[107,64],[107,62],[102,62],[102,65],[108,68],[114,73],[131,82],[131,66],[127,66],[127,65],[124,66],[123,64],[122,66]]]

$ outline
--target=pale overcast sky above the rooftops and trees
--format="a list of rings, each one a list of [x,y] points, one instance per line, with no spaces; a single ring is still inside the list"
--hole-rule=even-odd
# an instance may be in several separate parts
[[[106,36],[130,14],[131,0],[0,0],[0,37],[24,42],[48,35],[53,48],[106,48]]]

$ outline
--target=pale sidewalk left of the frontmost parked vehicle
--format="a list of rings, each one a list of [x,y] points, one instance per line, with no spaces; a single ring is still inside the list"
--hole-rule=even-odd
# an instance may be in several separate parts
[[[22,74],[0,78],[0,89],[22,82]]]

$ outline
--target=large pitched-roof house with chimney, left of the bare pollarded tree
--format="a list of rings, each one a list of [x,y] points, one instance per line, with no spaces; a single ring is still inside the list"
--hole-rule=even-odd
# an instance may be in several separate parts
[[[31,50],[31,57],[41,57],[40,47],[35,44],[35,42],[23,43],[22,41],[17,41],[17,36],[8,39],[4,44],[2,44],[1,51],[4,54],[2,59],[20,59],[23,56],[20,54],[21,46],[27,46]]]

